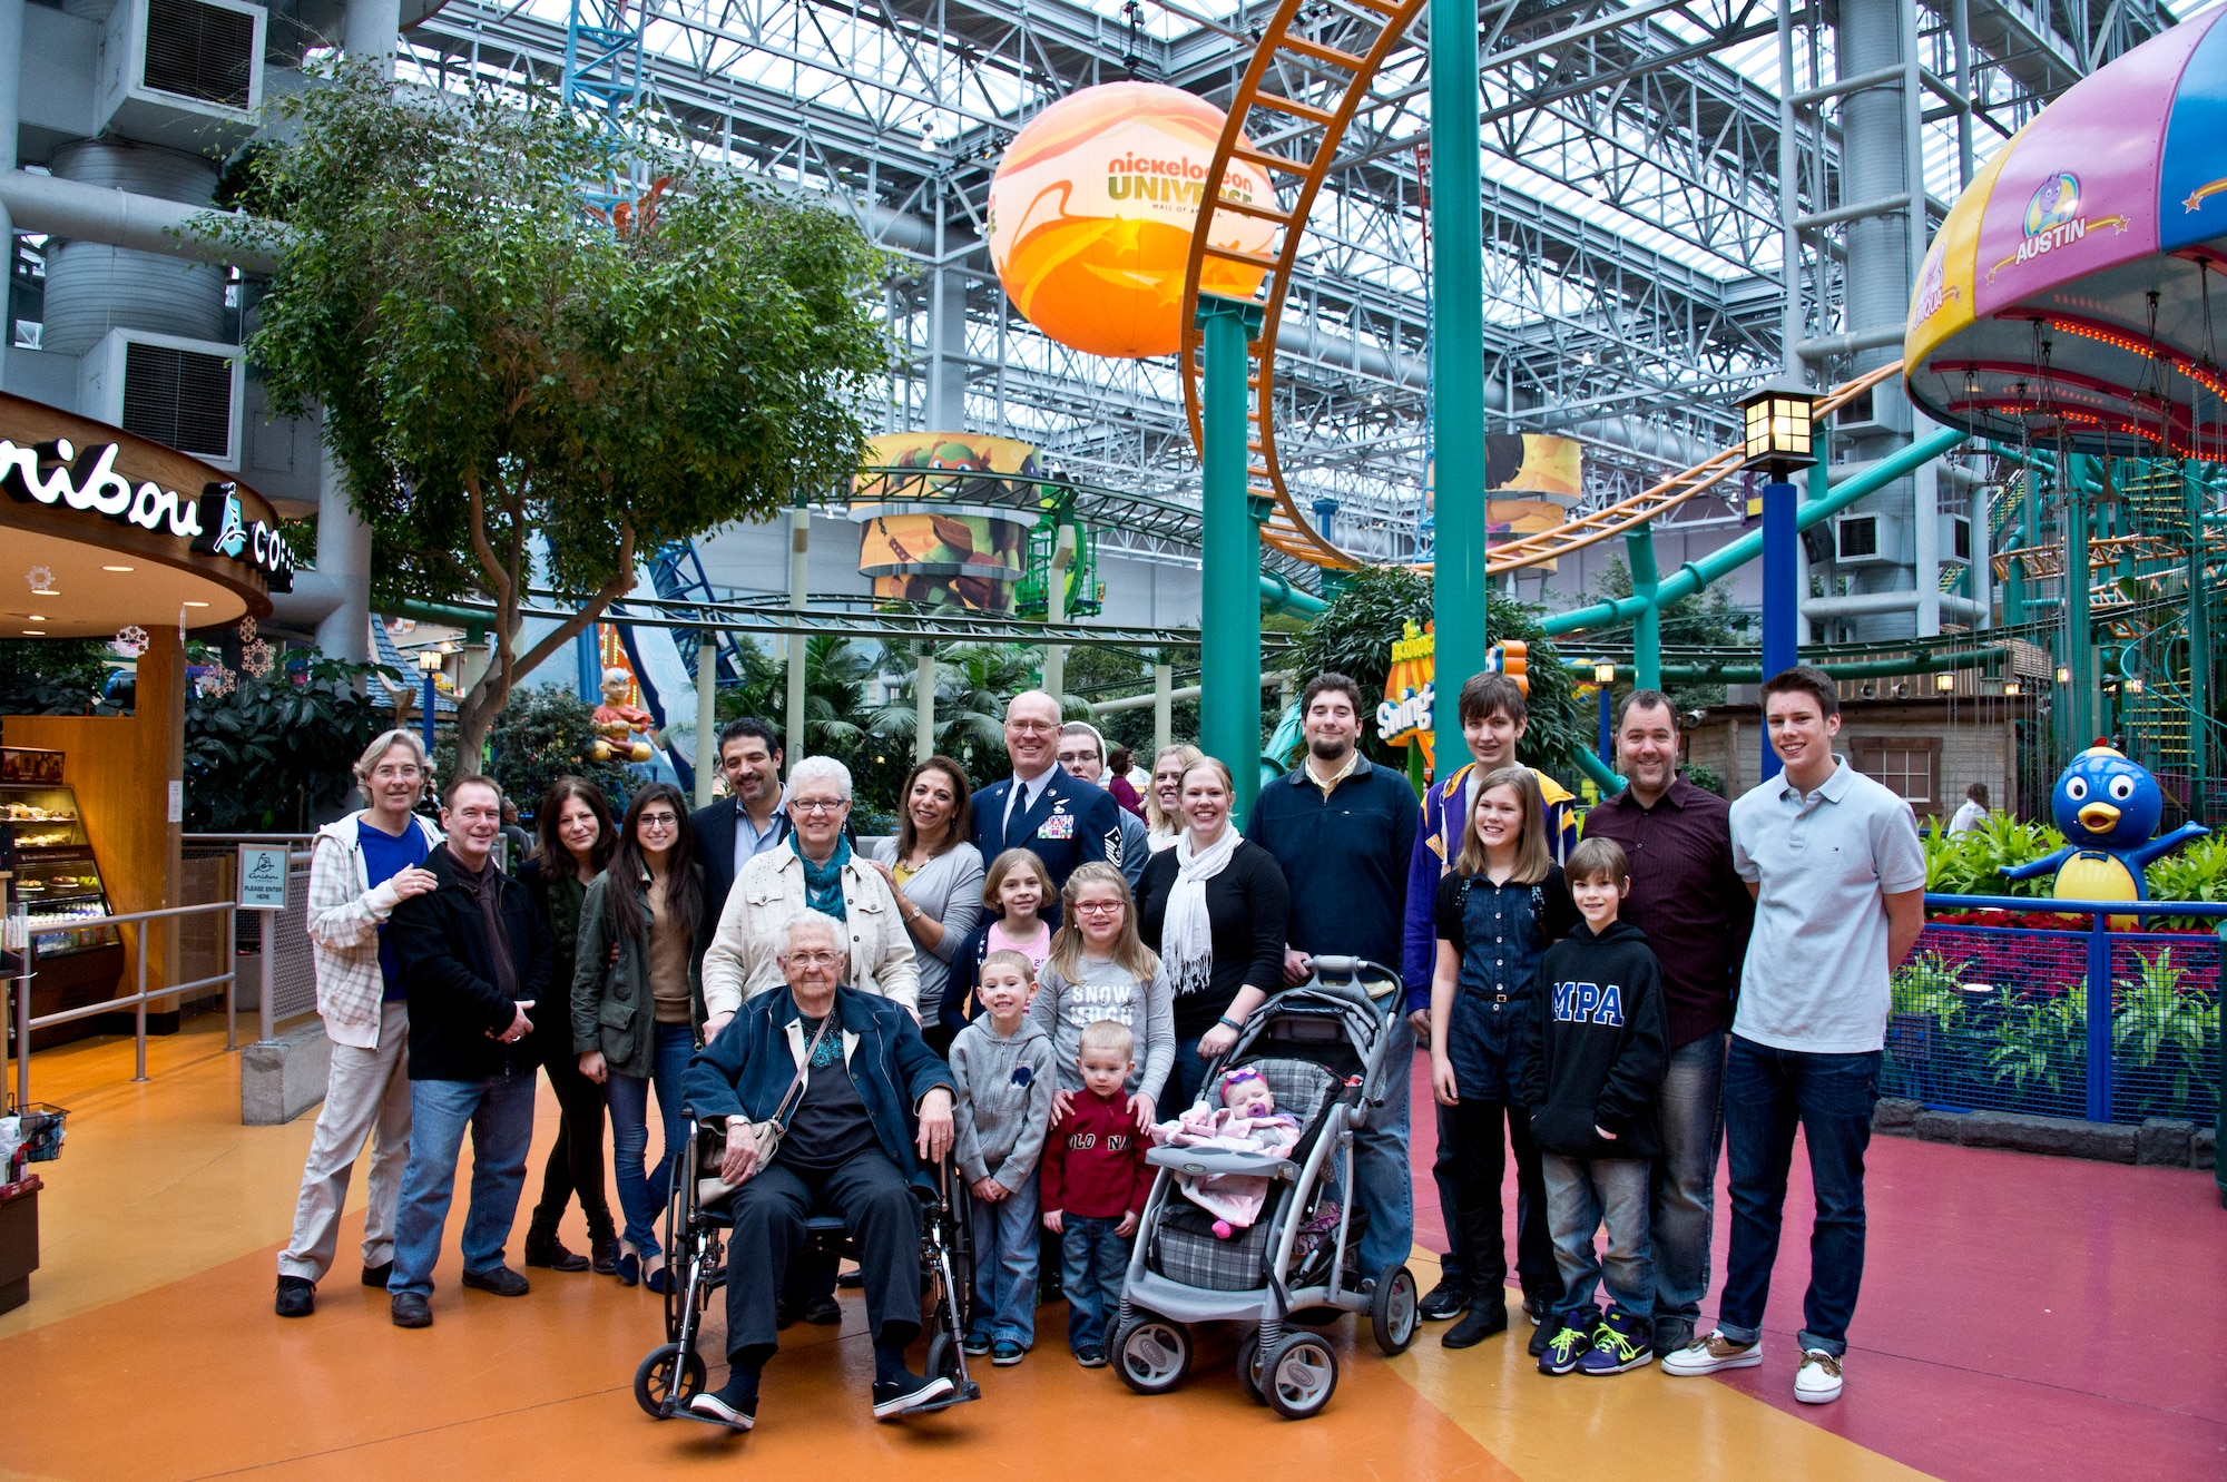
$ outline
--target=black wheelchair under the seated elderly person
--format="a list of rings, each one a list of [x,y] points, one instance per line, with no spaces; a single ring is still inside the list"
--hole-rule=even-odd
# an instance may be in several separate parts
[[[704,1184],[717,1188],[719,1157],[726,1148],[724,1119],[688,1119],[688,1139],[673,1168],[673,1195],[666,1202],[666,1342],[650,1348],[635,1369],[635,1404],[653,1420],[673,1420],[704,1391],[704,1355],[697,1342],[704,1315],[715,1293],[726,1286],[726,1239],[735,1226],[726,1199],[706,1202]],[[922,1371],[951,1380],[951,1397],[911,1411],[931,1411],[982,1397],[982,1386],[967,1377],[967,1304],[973,1300],[973,1242],[967,1219],[967,1190],[958,1166],[946,1153],[933,1170],[922,1168],[911,1182],[920,1202],[920,1331],[926,1337]],[[851,1235],[837,1215],[811,1215],[804,1222],[806,1251],[831,1259],[857,1257]]]

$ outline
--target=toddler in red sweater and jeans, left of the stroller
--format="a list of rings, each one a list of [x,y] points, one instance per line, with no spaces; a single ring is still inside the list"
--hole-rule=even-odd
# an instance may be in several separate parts
[[[1134,1055],[1136,1035],[1127,1024],[1098,1019],[1082,1026],[1076,1055],[1082,1090],[1051,1128],[1038,1173],[1044,1228],[1060,1237],[1067,1346],[1085,1369],[1107,1362],[1107,1317],[1120,1308],[1129,1237],[1151,1193],[1147,1139],[1122,1093],[1136,1068]]]

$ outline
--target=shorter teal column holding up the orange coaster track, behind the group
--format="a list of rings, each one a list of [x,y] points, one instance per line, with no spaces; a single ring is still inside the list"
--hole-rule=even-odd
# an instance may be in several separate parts
[[[1232,812],[1243,823],[1260,790],[1260,527],[1245,494],[1245,343],[1260,334],[1260,305],[1200,294],[1198,327],[1205,332],[1198,743],[1229,768],[1238,790]]]

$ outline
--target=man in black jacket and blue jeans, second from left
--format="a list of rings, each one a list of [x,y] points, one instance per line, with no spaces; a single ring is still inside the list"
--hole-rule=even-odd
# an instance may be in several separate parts
[[[432,1268],[457,1190],[457,1155],[472,1133],[472,1208],[463,1222],[463,1284],[523,1297],[503,1264],[534,1137],[534,1055],[526,1015],[555,1008],[557,943],[526,888],[497,868],[503,790],[459,777],[441,794],[448,843],[425,857],[439,886],[394,908],[387,935],[410,992],[410,1168],[394,1222],[394,1326],[432,1324]],[[570,964],[563,964],[570,966]]]

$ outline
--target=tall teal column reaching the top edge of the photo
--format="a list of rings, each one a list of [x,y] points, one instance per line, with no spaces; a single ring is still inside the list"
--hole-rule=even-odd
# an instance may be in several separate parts
[[[1485,668],[1485,225],[1479,209],[1477,0],[1430,0],[1430,454],[1436,463],[1436,692]],[[1514,412],[1514,407],[1508,407]],[[1434,710],[1439,757],[1461,717]]]

